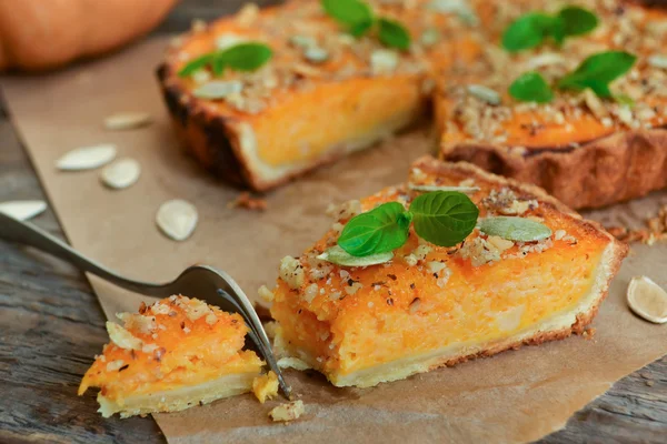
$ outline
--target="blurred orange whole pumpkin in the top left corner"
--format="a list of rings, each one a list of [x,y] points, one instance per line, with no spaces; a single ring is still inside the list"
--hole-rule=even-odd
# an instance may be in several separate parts
[[[0,0],[0,70],[44,70],[111,51],[178,0]]]

